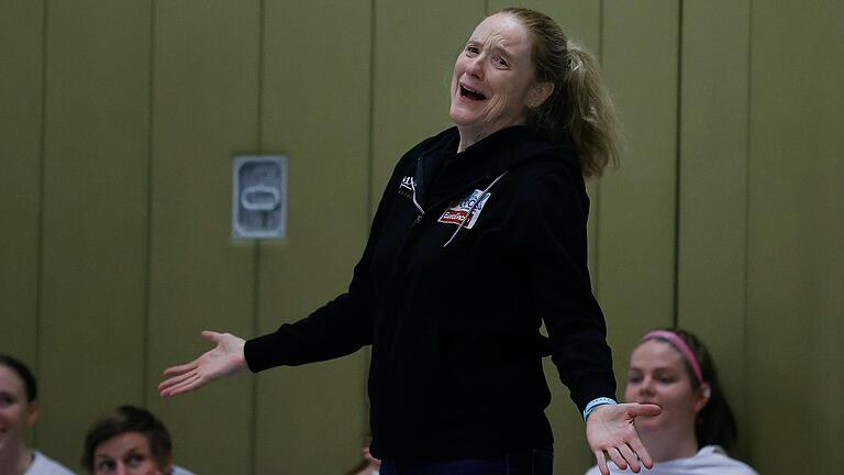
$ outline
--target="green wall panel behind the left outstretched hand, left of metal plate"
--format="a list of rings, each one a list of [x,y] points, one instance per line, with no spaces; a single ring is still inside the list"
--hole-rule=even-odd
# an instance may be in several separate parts
[[[197,473],[253,464],[251,377],[175,399],[155,384],[208,349],[200,330],[254,331],[255,250],[231,239],[231,194],[232,156],[257,146],[259,32],[257,0],[155,7],[146,394]]]

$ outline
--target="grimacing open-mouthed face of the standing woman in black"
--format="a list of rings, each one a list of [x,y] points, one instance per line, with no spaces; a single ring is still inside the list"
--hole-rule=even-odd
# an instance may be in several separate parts
[[[541,104],[553,89],[534,76],[528,29],[506,13],[488,16],[454,65],[452,120],[478,139],[524,123],[528,107]]]

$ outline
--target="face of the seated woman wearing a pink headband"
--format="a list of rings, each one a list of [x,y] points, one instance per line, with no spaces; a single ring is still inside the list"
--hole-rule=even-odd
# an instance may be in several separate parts
[[[636,418],[636,429],[644,432],[693,432],[697,415],[708,400],[701,388],[692,389],[682,355],[671,344],[658,340],[648,340],[633,351],[624,399],[663,408],[659,416]]]

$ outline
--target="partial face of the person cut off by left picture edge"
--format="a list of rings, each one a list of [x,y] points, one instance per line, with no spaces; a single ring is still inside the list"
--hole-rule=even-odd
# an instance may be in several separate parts
[[[20,448],[37,415],[37,405],[26,400],[18,373],[0,365],[0,452]]]

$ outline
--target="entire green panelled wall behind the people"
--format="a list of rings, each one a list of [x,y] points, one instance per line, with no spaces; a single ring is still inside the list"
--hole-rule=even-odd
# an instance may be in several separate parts
[[[203,474],[342,473],[367,352],[160,399],[200,330],[342,291],[392,165],[448,125],[451,67],[499,0],[0,0],[0,351],[42,386],[37,448],[149,407]],[[603,65],[622,166],[589,185],[615,351],[700,334],[760,473],[844,463],[844,3],[532,0]],[[288,236],[231,239],[232,157],[289,156]],[[553,368],[549,379],[556,382]],[[559,384],[556,471],[591,459]],[[782,448],[789,448],[784,450]]]

